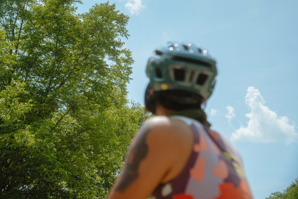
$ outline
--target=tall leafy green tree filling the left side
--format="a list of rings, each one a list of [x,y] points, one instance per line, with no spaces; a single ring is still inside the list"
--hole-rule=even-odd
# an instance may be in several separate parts
[[[0,0],[1,198],[105,198],[145,120],[129,17],[80,3]]]

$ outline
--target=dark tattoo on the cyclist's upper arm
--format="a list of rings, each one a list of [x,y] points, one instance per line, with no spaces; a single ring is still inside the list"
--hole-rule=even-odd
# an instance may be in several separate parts
[[[148,146],[146,144],[146,138],[150,129],[144,130],[143,134],[138,137],[135,145],[129,151],[129,156],[124,165],[124,170],[122,171],[122,176],[119,179],[115,187],[115,191],[123,192],[126,187],[128,187],[137,177],[138,177],[138,167],[141,161],[146,157],[148,152]]]

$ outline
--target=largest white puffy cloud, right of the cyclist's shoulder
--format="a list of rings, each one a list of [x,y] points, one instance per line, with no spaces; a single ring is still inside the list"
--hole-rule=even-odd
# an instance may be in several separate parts
[[[296,141],[298,138],[295,132],[295,125],[289,124],[286,116],[278,115],[264,106],[265,100],[258,89],[253,86],[248,87],[246,94],[246,104],[251,112],[246,114],[249,118],[247,127],[240,127],[233,132],[231,139],[234,141],[252,142],[276,142],[283,141],[287,144]]]

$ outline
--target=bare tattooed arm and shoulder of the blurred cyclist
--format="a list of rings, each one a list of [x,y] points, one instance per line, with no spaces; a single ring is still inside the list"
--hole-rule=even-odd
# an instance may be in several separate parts
[[[176,177],[184,166],[177,164],[177,155],[186,162],[192,143],[178,123],[155,117],[139,129],[108,199],[145,199],[158,184]]]

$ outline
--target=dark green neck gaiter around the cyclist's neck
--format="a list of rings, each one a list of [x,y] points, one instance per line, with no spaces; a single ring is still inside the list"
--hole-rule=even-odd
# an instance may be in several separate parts
[[[182,111],[176,111],[173,113],[169,113],[168,116],[172,115],[181,115],[188,118],[192,118],[198,120],[203,125],[210,127],[211,124],[207,121],[206,113],[202,109],[186,109]]]

